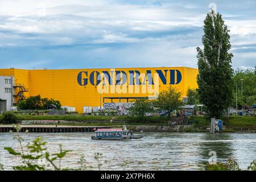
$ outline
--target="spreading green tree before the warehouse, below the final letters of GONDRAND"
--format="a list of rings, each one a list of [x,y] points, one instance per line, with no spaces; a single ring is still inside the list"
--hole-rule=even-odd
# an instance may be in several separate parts
[[[166,110],[170,117],[174,110],[178,110],[184,105],[181,94],[175,87],[169,86],[167,90],[159,93],[158,99],[155,100],[155,107],[158,107],[159,110]]]

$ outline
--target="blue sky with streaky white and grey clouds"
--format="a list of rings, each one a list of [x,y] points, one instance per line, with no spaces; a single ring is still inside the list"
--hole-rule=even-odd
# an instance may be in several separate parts
[[[230,29],[233,68],[254,68],[254,0],[0,0],[0,68],[197,68],[210,3]]]

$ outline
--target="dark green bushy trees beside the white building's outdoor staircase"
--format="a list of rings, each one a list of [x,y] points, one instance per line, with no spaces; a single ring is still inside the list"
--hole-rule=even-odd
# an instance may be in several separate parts
[[[52,98],[41,98],[40,95],[28,97],[27,100],[20,101],[17,106],[20,110],[46,110],[50,104],[55,105],[57,109],[61,108],[60,101],[53,100]]]

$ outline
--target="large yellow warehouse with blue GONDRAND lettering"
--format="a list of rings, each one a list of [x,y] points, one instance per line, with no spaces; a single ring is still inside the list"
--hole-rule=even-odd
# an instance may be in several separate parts
[[[102,69],[0,69],[0,76],[13,79],[13,104],[30,96],[53,98],[63,106],[103,106],[104,102],[129,102],[155,97],[175,86],[183,97],[197,88],[198,69],[187,67]],[[4,90],[4,86],[1,86]],[[2,92],[2,91],[1,91]],[[1,95],[0,95],[1,97]],[[0,98],[1,100],[1,98]]]

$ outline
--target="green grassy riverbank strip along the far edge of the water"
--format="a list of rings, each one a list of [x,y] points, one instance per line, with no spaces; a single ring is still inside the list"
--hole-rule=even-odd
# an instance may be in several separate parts
[[[0,121],[3,115],[0,114]],[[221,118],[224,125],[223,132],[248,131],[256,132],[256,117],[226,116]],[[129,117],[129,116],[97,116],[97,115],[22,115],[16,114],[18,123],[27,122],[26,125],[57,125],[67,126],[112,126],[120,127],[123,124],[130,129],[144,131],[179,131],[177,125],[171,126],[170,117]],[[189,125],[185,125],[183,132],[208,132],[210,118],[201,116],[188,117]],[[38,122],[38,123],[37,123]],[[6,125],[6,123],[2,123]],[[140,127],[139,127],[140,126]],[[154,127],[155,126],[155,127]],[[176,129],[175,129],[176,127]],[[172,130],[173,129],[173,130]]]

